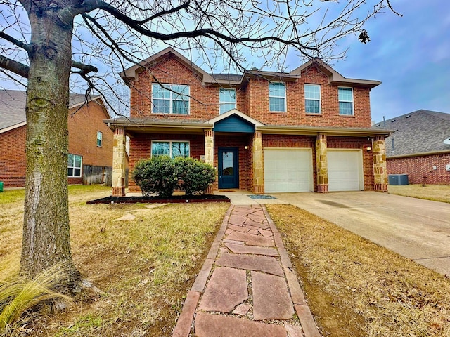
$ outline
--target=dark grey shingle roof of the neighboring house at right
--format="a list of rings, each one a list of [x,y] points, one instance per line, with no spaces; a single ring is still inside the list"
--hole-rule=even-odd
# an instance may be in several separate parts
[[[387,157],[450,151],[450,145],[443,143],[450,137],[450,114],[444,112],[417,110],[375,123],[373,128],[397,130],[386,138]]]

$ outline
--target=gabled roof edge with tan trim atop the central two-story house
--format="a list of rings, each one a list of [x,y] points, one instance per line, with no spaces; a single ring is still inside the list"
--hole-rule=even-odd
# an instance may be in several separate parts
[[[374,88],[375,86],[381,84],[380,81],[372,81],[367,79],[347,79],[336,72],[332,67],[326,65],[325,62],[317,58],[304,63],[304,65],[297,67],[292,72],[246,70],[243,74],[208,74],[205,70],[195,65],[191,60],[188,60],[188,58],[175,51],[172,47],[165,48],[163,51],[146,58],[146,60],[143,60],[142,62],[139,62],[139,64],[133,65],[127,70],[120,72],[120,77],[124,79],[125,83],[128,83],[130,80],[136,80],[139,72],[148,69],[148,67],[157,65],[158,62],[161,62],[170,56],[174,56],[177,60],[179,60],[179,62],[193,70],[196,74],[199,74],[202,78],[203,84],[205,85],[226,84],[231,86],[241,86],[245,84],[250,77],[262,77],[269,81],[279,81],[281,79],[283,81],[297,81],[302,76],[302,71],[306,70],[308,67],[320,67],[321,71],[327,74],[330,78],[330,84],[336,84],[339,86],[361,86],[365,88]]]

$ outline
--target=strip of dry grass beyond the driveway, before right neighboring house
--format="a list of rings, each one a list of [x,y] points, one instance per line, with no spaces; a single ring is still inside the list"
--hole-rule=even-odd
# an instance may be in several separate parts
[[[390,194],[450,203],[450,185],[388,185]]]

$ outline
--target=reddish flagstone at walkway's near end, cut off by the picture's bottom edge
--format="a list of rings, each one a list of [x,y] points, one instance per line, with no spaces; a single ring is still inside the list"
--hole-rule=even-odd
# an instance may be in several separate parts
[[[286,337],[283,326],[252,322],[247,319],[198,312],[195,317],[198,337]]]

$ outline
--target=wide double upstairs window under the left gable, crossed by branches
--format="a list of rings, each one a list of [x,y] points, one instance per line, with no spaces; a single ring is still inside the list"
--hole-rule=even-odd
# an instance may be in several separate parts
[[[152,103],[154,114],[189,114],[189,86],[153,84]]]

